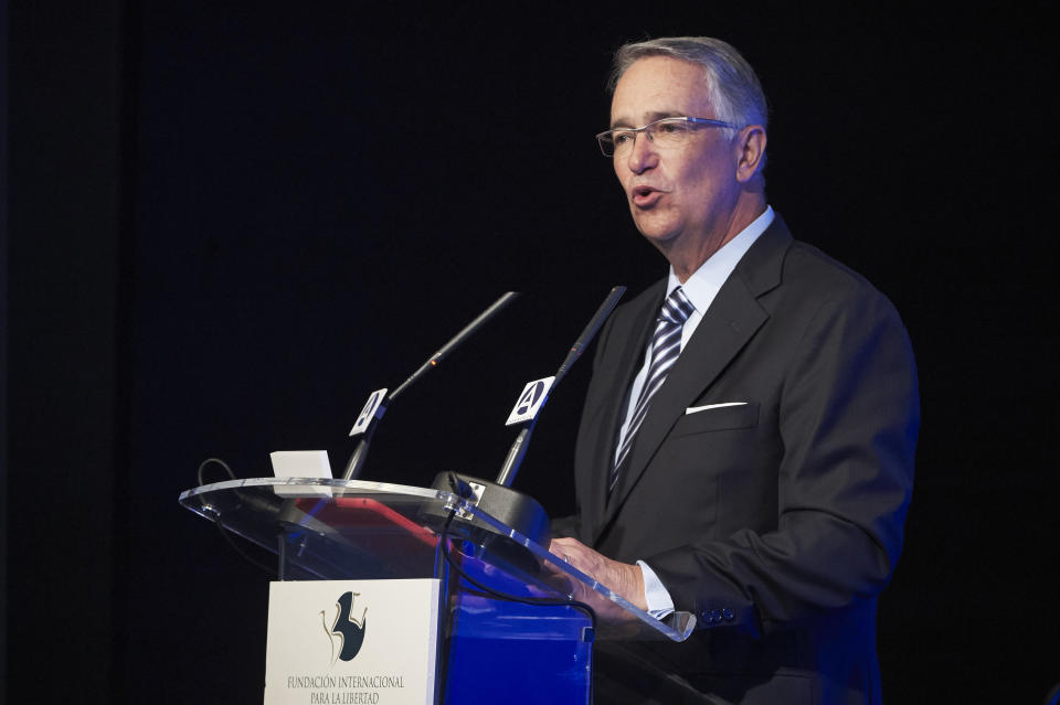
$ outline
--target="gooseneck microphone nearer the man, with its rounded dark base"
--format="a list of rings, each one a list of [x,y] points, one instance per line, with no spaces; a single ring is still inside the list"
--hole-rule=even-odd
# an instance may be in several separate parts
[[[621,299],[625,292],[626,287],[621,286],[614,287],[611,290],[607,298],[596,310],[596,313],[593,314],[589,325],[585,327],[585,330],[582,331],[582,334],[577,337],[577,340],[571,346],[570,352],[566,354],[555,375],[543,380],[536,380],[523,387],[519,399],[516,402],[515,408],[511,410],[505,424],[506,426],[522,424],[523,428],[519,431],[515,442],[508,450],[508,456],[505,458],[505,463],[500,469],[497,481],[490,482],[489,480],[473,478],[470,476],[442,472],[438,473],[434,480],[434,484],[432,485],[434,489],[454,491],[452,489],[454,481],[458,481],[462,488],[466,484],[470,487],[474,496],[465,499],[469,499],[475,506],[515,528],[534,543],[540,545],[548,544],[550,533],[549,516],[544,508],[542,508],[537,500],[512,490],[511,483],[516,478],[516,473],[519,471],[522,459],[527,455],[530,435],[533,432],[533,426],[537,423],[541,408],[548,400],[549,393],[560,380],[566,376],[571,365],[574,364],[589,343],[592,342],[600,327],[603,325],[604,320],[611,314],[612,309],[615,308],[618,299]],[[474,517],[464,519],[457,515],[457,519],[462,522],[470,523],[476,530],[485,530],[487,532],[496,531],[492,526]],[[469,533],[474,535],[479,532],[471,530]],[[509,559],[515,563],[527,563],[527,560],[520,559],[518,555],[509,556]]]

